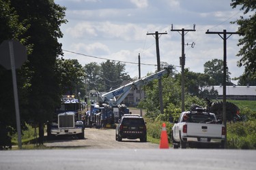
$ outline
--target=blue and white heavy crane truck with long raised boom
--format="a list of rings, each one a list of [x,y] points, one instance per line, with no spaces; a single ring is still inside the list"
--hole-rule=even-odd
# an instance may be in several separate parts
[[[169,73],[171,69],[173,69],[173,67],[171,66],[165,67],[165,69],[163,69],[162,71],[153,73],[152,75],[148,75],[145,78],[135,80],[134,82],[130,82],[124,86],[116,88],[115,90],[111,90],[110,92],[100,93],[95,90],[90,91],[90,95],[94,96],[90,97],[92,99],[90,102],[94,104],[91,105],[91,110],[87,112],[90,120],[89,124],[96,124],[97,121],[101,122],[100,124],[98,124],[98,126],[102,126],[102,122],[104,122],[102,120],[111,117],[111,120],[109,118],[108,122],[104,122],[104,127],[113,127],[113,124],[117,123],[124,114],[129,114],[129,109],[126,107],[126,105],[121,103],[127,97],[130,90],[138,89],[140,86],[143,86],[151,82],[152,80],[162,78],[162,76]],[[100,107],[102,106],[106,109],[100,109]],[[95,110],[98,110],[98,113],[95,113]],[[106,114],[105,112],[108,112],[108,114]],[[97,116],[101,120],[97,120]]]

